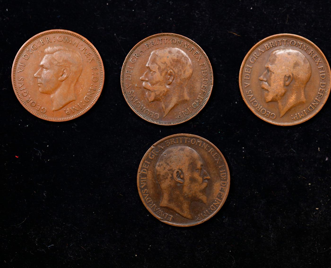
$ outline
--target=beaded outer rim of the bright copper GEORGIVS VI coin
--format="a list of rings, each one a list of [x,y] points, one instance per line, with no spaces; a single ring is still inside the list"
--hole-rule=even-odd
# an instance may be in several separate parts
[[[16,82],[15,82],[15,76],[16,76],[16,66],[18,64],[18,59],[19,57],[21,56],[21,54],[24,52],[24,49],[30,44],[32,43],[35,39],[41,37],[41,36],[44,36],[44,35],[47,35],[47,34],[50,34],[50,33],[64,33],[64,34],[69,34],[69,35],[72,35],[76,38],[78,38],[79,40],[83,41],[84,43],[86,43],[86,45],[88,45],[92,50],[94,50],[95,54],[98,56],[98,59],[99,59],[99,62],[98,62],[98,65],[100,66],[100,72],[101,72],[101,79],[102,79],[102,82],[101,82],[101,85],[99,86],[99,92],[98,92],[98,95],[95,96],[95,98],[92,100],[92,102],[87,106],[85,107],[82,111],[80,111],[79,113],[75,114],[75,115],[71,115],[71,116],[67,116],[67,117],[61,117],[61,118],[52,118],[52,117],[48,117],[44,114],[39,114],[37,113],[36,111],[34,111],[33,109],[31,109],[27,103],[24,102],[24,100],[22,99],[21,95],[19,95],[17,92],[17,85],[16,85]],[[46,120],[46,121],[51,121],[51,122],[63,122],[63,121],[69,121],[69,120],[72,120],[74,118],[77,118],[79,116],[81,116],[82,114],[86,113],[88,110],[90,110],[90,108],[95,104],[95,102],[99,99],[100,95],[101,95],[101,92],[102,92],[102,89],[103,89],[103,86],[104,86],[104,82],[105,82],[105,68],[104,68],[104,65],[103,65],[103,62],[102,62],[102,59],[101,59],[101,56],[98,52],[98,50],[93,46],[93,44],[88,40],[86,39],[84,36],[76,33],[76,32],[73,32],[73,31],[70,31],[70,30],[64,30],[64,29],[53,29],[53,30],[47,30],[47,31],[43,31],[43,32],[40,32],[38,34],[35,34],[34,36],[32,36],[31,38],[29,38],[24,44],[23,46],[19,49],[19,51],[17,52],[16,56],[15,56],[15,59],[14,59],[14,62],[13,62],[13,66],[12,66],[12,85],[13,85],[13,89],[14,89],[14,92],[15,92],[15,95],[16,97],[18,98],[18,100],[20,101],[20,103],[23,105],[23,107],[28,111],[30,112],[31,114],[33,114],[34,116],[38,117],[38,118],[41,118],[43,120]]]

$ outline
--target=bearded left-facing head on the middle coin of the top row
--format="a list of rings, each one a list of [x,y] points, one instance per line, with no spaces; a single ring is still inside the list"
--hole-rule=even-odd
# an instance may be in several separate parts
[[[160,101],[165,117],[180,102],[189,100],[187,84],[193,73],[191,59],[173,47],[154,50],[140,79],[149,102]]]

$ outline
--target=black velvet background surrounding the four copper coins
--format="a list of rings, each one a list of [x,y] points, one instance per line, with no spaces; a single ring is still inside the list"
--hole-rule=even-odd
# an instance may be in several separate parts
[[[272,34],[302,35],[331,60],[330,4],[202,2],[0,1],[2,267],[330,267],[331,101],[280,127],[238,86],[246,53]],[[83,35],[104,62],[99,100],[68,122],[33,116],[11,84],[20,47],[48,29]],[[172,127],[139,118],[120,88],[127,53],[159,32],[197,42],[214,73],[205,108]],[[213,142],[231,175],[221,210],[189,228],[154,218],[136,186],[147,149],[176,133]]]

